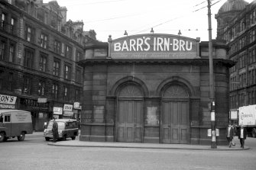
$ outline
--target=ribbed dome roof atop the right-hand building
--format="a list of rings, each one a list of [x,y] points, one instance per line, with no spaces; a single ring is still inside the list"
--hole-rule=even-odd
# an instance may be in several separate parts
[[[228,11],[242,11],[246,5],[248,5],[248,2],[245,2],[245,0],[228,0],[219,8],[218,14]]]

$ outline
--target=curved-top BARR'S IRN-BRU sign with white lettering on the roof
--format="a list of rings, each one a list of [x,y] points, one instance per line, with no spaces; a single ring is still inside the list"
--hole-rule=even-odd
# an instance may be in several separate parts
[[[141,34],[112,40],[113,59],[193,59],[199,56],[196,39],[169,34]]]

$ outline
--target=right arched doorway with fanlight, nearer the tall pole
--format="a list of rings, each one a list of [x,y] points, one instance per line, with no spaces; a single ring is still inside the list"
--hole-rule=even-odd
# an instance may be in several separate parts
[[[189,142],[189,94],[181,85],[171,85],[162,95],[163,143]]]

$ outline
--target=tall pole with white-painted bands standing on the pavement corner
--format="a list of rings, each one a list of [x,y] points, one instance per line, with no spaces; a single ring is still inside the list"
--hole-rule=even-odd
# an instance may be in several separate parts
[[[208,24],[209,24],[209,90],[210,90],[210,102],[211,102],[211,128],[212,128],[212,141],[211,149],[216,149],[216,127],[215,127],[215,94],[213,83],[213,59],[212,59],[212,19],[211,19],[211,4],[208,2]]]

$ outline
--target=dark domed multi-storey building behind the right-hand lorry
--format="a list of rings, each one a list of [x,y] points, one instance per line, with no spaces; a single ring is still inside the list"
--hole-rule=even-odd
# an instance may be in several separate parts
[[[230,68],[230,108],[256,104],[256,1],[228,0],[215,15],[217,40],[225,40]]]

